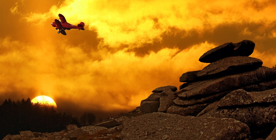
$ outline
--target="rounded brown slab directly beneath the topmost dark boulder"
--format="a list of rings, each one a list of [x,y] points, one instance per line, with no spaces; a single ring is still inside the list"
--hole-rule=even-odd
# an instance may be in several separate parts
[[[218,77],[254,70],[262,60],[248,56],[230,56],[210,63],[196,74],[197,77]]]

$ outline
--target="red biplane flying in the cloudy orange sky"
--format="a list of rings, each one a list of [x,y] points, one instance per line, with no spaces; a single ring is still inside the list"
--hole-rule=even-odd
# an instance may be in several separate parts
[[[70,29],[78,29],[78,30],[84,30],[84,23],[81,22],[80,24],[78,24],[78,26],[72,25],[70,23],[68,23],[65,19],[65,17],[62,14],[58,14],[58,17],[60,17],[58,20],[55,19],[55,22],[51,23],[51,25],[53,27],[55,27],[55,29],[58,29],[57,33],[61,33],[63,35],[66,35],[66,32],[64,30],[70,30]],[[59,21],[61,20],[61,22]]]

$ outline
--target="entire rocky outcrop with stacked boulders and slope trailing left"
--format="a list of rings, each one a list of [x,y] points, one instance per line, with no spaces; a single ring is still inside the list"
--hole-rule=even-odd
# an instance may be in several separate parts
[[[22,131],[4,140],[276,140],[276,70],[249,57],[254,47],[243,40],[207,51],[199,60],[210,64],[182,74],[178,91],[156,88],[140,107],[115,119],[55,133]]]

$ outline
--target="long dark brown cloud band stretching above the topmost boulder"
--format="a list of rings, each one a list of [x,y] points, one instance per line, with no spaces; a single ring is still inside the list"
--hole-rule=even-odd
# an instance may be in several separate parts
[[[256,46],[255,49],[264,52],[267,50],[275,51],[276,38],[271,38],[271,31],[276,29],[276,22],[269,27],[259,23],[243,23],[218,25],[214,29],[204,30],[200,33],[198,30],[185,31],[176,27],[170,27],[166,32],[161,34],[162,41],[158,39],[153,43],[143,44],[140,48],[129,49],[129,52],[135,52],[137,56],[143,57],[150,52],[158,52],[164,48],[187,49],[195,44],[205,41],[217,46],[227,42],[237,43],[242,40],[251,40]],[[248,31],[245,33],[245,31]],[[272,52],[271,52],[272,53]]]

